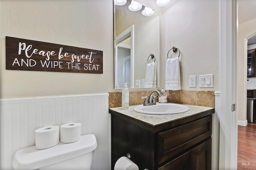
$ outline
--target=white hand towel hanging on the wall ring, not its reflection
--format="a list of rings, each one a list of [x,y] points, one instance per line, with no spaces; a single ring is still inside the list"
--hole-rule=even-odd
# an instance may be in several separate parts
[[[169,58],[166,61],[165,89],[180,90],[180,62],[179,58]]]

